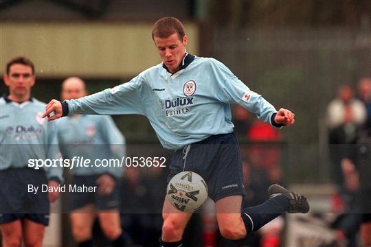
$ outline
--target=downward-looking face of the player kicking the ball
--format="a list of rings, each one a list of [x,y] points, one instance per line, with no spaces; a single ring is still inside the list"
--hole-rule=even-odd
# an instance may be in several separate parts
[[[175,33],[168,38],[155,37],[154,40],[162,62],[171,73],[177,72],[184,54],[186,54],[187,36],[181,40],[179,35]]]

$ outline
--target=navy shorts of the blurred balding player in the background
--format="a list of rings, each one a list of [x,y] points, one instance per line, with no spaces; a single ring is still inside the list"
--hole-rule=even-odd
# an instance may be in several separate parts
[[[91,175],[91,176],[78,176],[75,175],[72,178],[71,185],[77,186],[87,186],[87,187],[95,187],[98,186],[96,180],[100,177],[100,175]],[[108,195],[100,195],[98,193],[99,186],[97,187],[95,192],[71,192],[69,191],[69,210],[80,209],[87,204],[95,205],[98,210],[104,211],[109,209],[118,209],[119,208],[119,193],[117,190],[117,181],[116,185],[113,188],[112,193]]]

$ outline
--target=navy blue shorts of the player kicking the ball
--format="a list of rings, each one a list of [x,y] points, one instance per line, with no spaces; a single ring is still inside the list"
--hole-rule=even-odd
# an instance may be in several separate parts
[[[170,179],[183,171],[199,174],[214,202],[227,196],[245,196],[240,145],[234,135],[216,134],[177,150],[170,164]]]

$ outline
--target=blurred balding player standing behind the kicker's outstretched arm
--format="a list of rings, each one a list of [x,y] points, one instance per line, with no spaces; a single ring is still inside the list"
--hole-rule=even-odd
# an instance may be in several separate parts
[[[63,82],[63,100],[86,95],[85,82],[80,78],[67,78]],[[94,163],[109,158],[121,160],[124,156],[124,137],[109,116],[71,115],[57,121],[57,126],[63,158],[78,156]],[[114,246],[124,246],[116,186],[123,167],[74,167],[70,171],[72,185],[99,186],[95,193],[69,194],[72,234],[78,245],[93,246],[91,232],[98,216],[104,235]]]

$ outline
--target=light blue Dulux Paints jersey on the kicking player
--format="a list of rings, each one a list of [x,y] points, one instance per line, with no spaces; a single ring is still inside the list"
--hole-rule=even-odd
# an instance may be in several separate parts
[[[144,115],[164,148],[173,150],[214,134],[233,132],[229,104],[239,104],[270,124],[277,113],[223,63],[190,54],[177,73],[157,64],[130,82],[67,104],[69,114]]]

